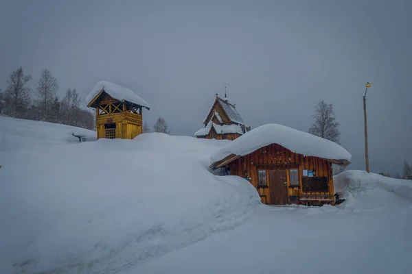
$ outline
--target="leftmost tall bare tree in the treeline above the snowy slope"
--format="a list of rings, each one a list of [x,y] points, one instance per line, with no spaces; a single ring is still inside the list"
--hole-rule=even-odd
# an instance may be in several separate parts
[[[4,92],[6,114],[22,118],[30,105],[30,88],[25,86],[32,79],[32,75],[25,75],[20,67],[10,74],[8,87]]]

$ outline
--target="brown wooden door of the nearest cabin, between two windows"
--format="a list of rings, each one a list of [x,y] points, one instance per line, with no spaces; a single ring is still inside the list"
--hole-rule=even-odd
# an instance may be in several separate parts
[[[269,170],[269,189],[271,191],[271,204],[285,205],[288,203],[286,169]]]

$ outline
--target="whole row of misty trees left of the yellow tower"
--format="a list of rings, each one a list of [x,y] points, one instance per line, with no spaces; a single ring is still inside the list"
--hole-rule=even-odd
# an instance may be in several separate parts
[[[57,79],[44,69],[36,85],[34,100],[27,83],[32,75],[25,75],[20,67],[10,73],[7,88],[0,89],[0,114],[14,118],[45,121],[95,129],[94,113],[80,108],[80,96],[76,88],[67,90],[65,97],[59,99]]]

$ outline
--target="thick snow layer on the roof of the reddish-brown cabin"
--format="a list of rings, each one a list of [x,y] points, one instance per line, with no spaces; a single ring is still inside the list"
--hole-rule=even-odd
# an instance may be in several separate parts
[[[212,154],[211,168],[218,168],[216,162],[228,156],[247,155],[271,144],[281,145],[295,153],[333,160],[341,164],[349,164],[352,158],[352,155],[336,142],[284,125],[267,124],[252,129]],[[233,160],[235,159],[233,157]]]

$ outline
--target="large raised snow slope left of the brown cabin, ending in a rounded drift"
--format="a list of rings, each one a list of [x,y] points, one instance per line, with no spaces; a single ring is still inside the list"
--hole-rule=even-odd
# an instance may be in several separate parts
[[[0,118],[0,273],[113,273],[240,225],[260,198],[207,170],[229,141]],[[24,272],[26,271],[26,272]]]

